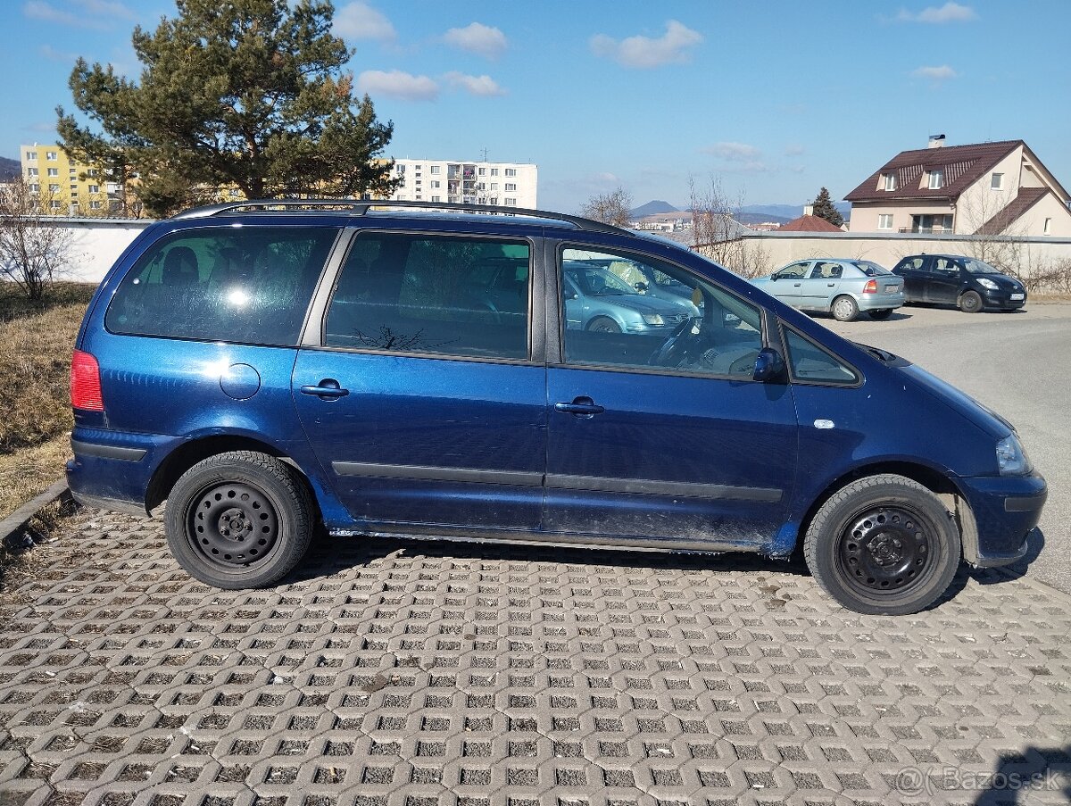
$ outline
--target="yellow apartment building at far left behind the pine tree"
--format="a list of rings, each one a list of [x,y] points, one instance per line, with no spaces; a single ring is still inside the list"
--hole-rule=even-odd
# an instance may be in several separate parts
[[[22,179],[54,215],[107,215],[121,206],[122,188],[104,171],[67,155],[57,145],[19,146]]]

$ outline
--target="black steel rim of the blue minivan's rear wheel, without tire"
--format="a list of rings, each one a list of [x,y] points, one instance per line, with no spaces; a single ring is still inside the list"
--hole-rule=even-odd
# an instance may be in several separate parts
[[[186,537],[213,565],[248,566],[267,557],[278,540],[278,516],[252,484],[214,484],[194,498]]]

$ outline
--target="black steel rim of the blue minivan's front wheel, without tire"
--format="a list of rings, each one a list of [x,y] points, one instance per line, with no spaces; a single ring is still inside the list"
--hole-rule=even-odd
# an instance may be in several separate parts
[[[872,506],[851,518],[836,561],[844,581],[868,596],[920,584],[934,565],[933,526],[908,507]]]

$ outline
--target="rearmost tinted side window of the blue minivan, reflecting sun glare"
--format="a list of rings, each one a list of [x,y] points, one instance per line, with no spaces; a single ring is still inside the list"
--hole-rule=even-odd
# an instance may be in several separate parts
[[[114,333],[293,346],[337,229],[220,227],[153,244],[123,278]]]

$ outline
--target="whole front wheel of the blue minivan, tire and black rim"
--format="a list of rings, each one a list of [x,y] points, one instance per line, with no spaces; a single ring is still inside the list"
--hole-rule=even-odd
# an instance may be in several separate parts
[[[803,540],[808,568],[856,613],[905,615],[948,589],[960,566],[960,531],[930,490],[904,476],[869,476],[834,493]]]

